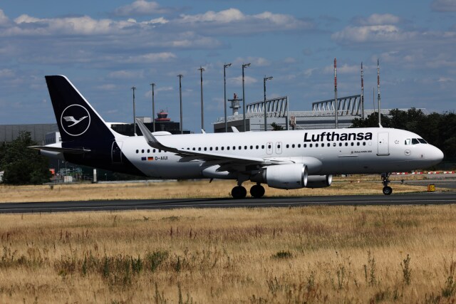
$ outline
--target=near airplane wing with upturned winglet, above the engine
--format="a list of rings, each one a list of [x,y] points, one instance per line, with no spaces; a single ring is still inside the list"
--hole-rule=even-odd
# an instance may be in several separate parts
[[[262,157],[244,157],[240,155],[232,155],[232,154],[221,154],[221,153],[211,153],[211,152],[202,152],[202,151],[190,151],[190,150],[181,150],[175,147],[167,147],[163,145],[157,137],[153,136],[152,133],[147,129],[147,127],[142,123],[141,120],[136,119],[138,123],[138,127],[144,135],[144,138],[150,147],[163,150],[167,152],[174,152],[177,155],[180,155],[182,159],[180,162],[190,162],[191,160],[200,159],[204,160],[205,162],[213,162],[214,164],[222,164],[227,162],[233,162],[236,164],[261,164],[261,165],[269,165],[269,164],[286,164],[292,163],[289,160],[284,159],[282,160],[268,160]]]

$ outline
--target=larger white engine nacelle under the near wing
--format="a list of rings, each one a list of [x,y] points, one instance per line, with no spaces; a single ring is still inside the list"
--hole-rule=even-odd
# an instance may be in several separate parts
[[[278,164],[267,167],[262,176],[271,188],[300,189],[307,185],[307,166],[305,164]]]

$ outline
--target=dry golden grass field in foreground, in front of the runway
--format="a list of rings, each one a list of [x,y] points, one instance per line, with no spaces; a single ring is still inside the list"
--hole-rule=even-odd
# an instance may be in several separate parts
[[[0,215],[0,303],[454,303],[455,206]]]

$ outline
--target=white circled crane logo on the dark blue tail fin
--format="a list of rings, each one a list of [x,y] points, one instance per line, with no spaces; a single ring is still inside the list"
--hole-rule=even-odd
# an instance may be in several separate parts
[[[90,113],[82,105],[68,105],[62,112],[60,123],[66,134],[83,135],[90,126]]]

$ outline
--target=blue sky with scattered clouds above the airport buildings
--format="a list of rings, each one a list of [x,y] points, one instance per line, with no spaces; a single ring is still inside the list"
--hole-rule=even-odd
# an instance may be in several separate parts
[[[66,75],[108,122],[152,114],[199,132],[199,71],[205,71],[205,128],[223,116],[227,96],[247,103],[288,95],[290,110],[361,90],[372,108],[380,58],[383,108],[455,111],[456,0],[430,1],[0,1],[0,124],[55,122],[44,75]],[[376,88],[375,88],[376,91]],[[228,112],[230,110],[228,109]]]

